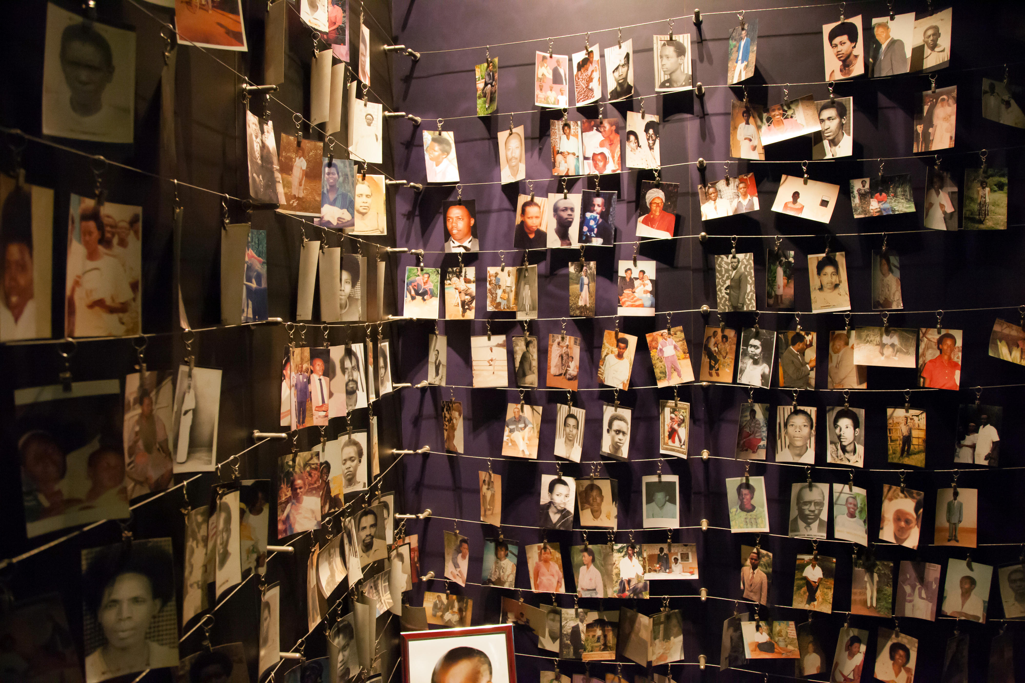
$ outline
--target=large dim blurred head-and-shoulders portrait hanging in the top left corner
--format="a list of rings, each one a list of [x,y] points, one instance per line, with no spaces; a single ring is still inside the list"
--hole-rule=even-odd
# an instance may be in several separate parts
[[[46,5],[43,134],[131,143],[135,32]]]

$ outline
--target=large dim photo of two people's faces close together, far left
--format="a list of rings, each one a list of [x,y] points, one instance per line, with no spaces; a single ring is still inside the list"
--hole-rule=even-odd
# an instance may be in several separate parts
[[[129,516],[118,379],[14,394],[27,535]]]

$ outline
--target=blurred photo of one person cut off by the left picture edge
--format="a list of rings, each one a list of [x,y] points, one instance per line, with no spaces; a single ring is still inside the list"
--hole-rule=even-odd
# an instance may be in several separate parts
[[[52,5],[51,5],[52,6]],[[53,191],[0,175],[0,342],[50,336]]]

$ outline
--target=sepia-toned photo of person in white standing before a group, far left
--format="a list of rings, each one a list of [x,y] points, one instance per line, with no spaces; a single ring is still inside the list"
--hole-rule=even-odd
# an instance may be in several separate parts
[[[67,254],[66,335],[138,334],[142,207],[71,195]]]

